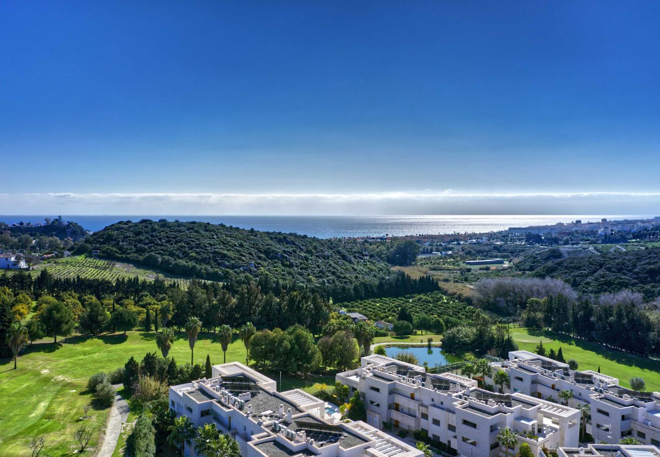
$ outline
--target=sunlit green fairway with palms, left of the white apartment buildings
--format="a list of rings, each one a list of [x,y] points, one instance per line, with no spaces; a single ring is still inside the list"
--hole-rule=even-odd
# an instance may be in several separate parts
[[[157,351],[154,334],[129,332],[127,335],[71,337],[67,343],[55,345],[51,339],[34,343],[13,361],[0,360],[0,449],[3,455],[30,455],[26,442],[48,433],[45,455],[66,455],[74,447],[73,433],[81,425],[82,407],[91,396],[85,384],[91,374],[123,366],[133,355],[140,361],[145,353]],[[195,363],[203,366],[207,353],[211,362],[222,363],[222,349],[212,335],[200,335],[195,345]],[[190,348],[184,334],[178,334],[170,355],[178,363],[190,361]],[[245,362],[245,347],[236,339],[227,351],[227,361]],[[270,373],[279,380],[279,374]],[[282,387],[314,390],[315,382],[334,382],[334,376],[307,379],[282,377]],[[74,392],[71,392],[71,391]],[[106,423],[109,409],[90,411],[86,419],[97,431]],[[96,445],[98,433],[92,446]]]

